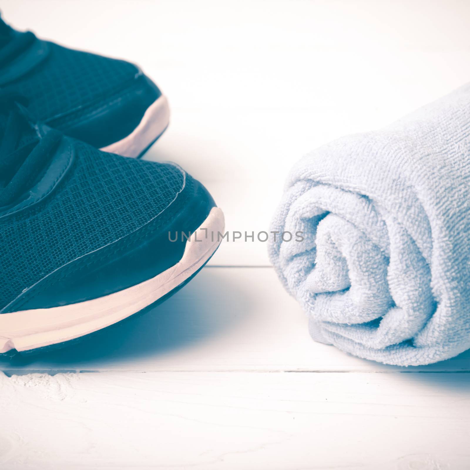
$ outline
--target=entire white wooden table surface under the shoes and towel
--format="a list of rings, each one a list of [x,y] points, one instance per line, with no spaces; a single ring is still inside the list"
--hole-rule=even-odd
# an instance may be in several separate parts
[[[269,227],[307,150],[470,79],[470,2],[25,1],[20,29],[123,57],[172,105],[146,158],[227,229]],[[313,343],[266,244],[224,242],[170,300],[88,343],[0,357],[0,468],[470,468],[470,353],[397,368]]]

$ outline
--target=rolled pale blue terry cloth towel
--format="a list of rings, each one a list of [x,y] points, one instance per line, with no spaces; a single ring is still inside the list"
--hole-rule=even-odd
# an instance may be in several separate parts
[[[272,230],[304,232],[269,254],[314,339],[401,366],[470,348],[470,84],[306,155]]]

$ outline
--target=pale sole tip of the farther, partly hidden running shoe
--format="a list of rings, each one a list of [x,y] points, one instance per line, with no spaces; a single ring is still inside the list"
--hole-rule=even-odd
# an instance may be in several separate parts
[[[162,94],[145,111],[139,125],[124,139],[114,142],[101,150],[123,157],[136,158],[149,147],[166,129],[170,122],[168,100]]]

